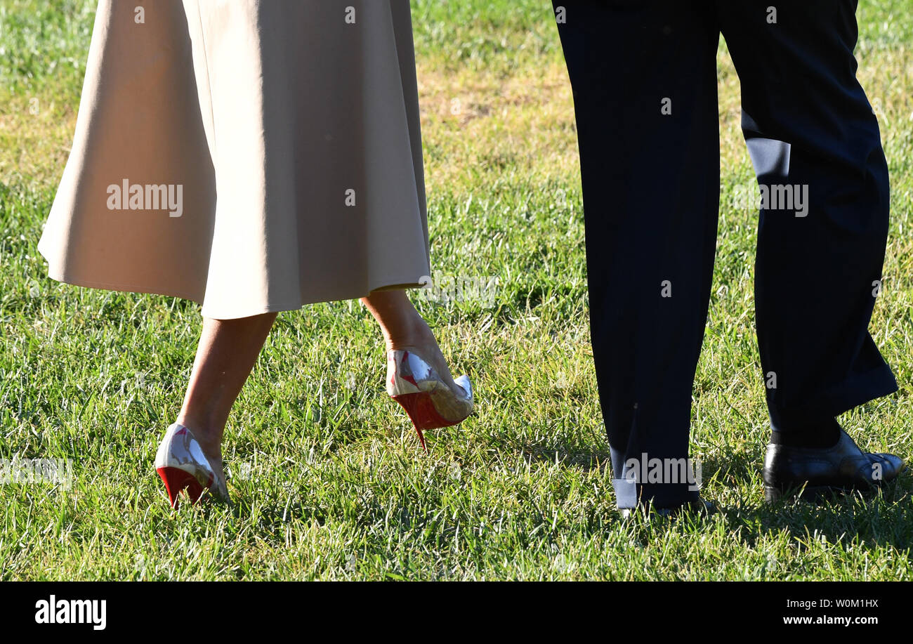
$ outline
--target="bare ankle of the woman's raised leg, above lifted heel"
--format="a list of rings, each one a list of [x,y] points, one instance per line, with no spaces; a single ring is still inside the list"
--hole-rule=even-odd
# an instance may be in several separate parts
[[[362,302],[381,325],[387,350],[415,351],[434,366],[446,385],[456,390],[444,355],[437,346],[435,334],[404,290],[375,290]]]

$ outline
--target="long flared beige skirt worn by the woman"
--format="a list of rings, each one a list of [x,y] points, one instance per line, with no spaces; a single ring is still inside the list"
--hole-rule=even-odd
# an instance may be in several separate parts
[[[229,319],[430,273],[408,0],[100,0],[38,250]]]

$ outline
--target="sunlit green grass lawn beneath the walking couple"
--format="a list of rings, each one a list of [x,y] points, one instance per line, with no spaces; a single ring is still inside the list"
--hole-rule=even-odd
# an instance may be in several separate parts
[[[719,49],[722,199],[692,457],[722,512],[623,523],[587,323],[576,133],[546,0],[415,0],[436,275],[498,278],[493,307],[414,293],[477,416],[418,447],[358,302],[279,315],[226,429],[233,506],[171,512],[152,468],[199,307],[47,278],[37,240],[75,125],[95,2],[0,3],[0,459],[72,459],[72,489],[0,486],[0,579],[904,579],[913,480],[767,506],[752,299],[756,215],[739,81]],[[900,392],[841,420],[913,454],[913,0],[859,9],[859,76],[891,170],[871,325]]]

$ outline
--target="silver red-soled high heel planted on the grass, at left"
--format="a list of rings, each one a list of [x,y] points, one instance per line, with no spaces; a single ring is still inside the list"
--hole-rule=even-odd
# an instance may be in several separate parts
[[[200,444],[190,429],[178,423],[165,431],[155,454],[155,470],[164,481],[174,510],[183,490],[187,491],[191,504],[199,501],[205,490],[220,500],[228,498],[225,484],[215,475]]]

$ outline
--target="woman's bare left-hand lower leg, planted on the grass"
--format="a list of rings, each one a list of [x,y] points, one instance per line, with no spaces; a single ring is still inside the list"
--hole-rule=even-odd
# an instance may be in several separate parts
[[[236,320],[203,319],[194,370],[177,422],[189,428],[225,483],[222,435],[228,414],[250,375],[278,313]]]

